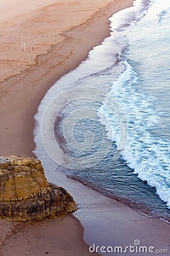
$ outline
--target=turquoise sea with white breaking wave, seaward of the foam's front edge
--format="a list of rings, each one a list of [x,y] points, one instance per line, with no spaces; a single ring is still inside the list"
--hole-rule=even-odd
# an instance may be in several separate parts
[[[170,207],[170,3],[152,1],[146,15],[119,39],[126,44],[126,70],[111,93],[124,106],[129,123],[122,156],[134,174],[156,187]],[[119,90],[115,94],[115,90]],[[125,93],[122,94],[122,90]],[[121,95],[121,97],[120,97]]]

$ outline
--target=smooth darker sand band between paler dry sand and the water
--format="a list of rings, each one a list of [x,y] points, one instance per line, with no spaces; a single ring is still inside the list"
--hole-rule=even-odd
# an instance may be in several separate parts
[[[62,32],[65,39],[56,46],[51,46],[44,55],[37,56],[36,65],[0,82],[0,115],[3,118],[0,127],[3,150],[0,155],[35,156],[32,153],[35,148],[34,116],[45,93],[61,76],[86,60],[88,52],[109,36],[108,18],[118,10],[131,6],[133,1],[108,2],[110,3],[97,10],[87,22]],[[23,104],[24,109],[20,108]],[[13,113],[11,109],[14,110]]]

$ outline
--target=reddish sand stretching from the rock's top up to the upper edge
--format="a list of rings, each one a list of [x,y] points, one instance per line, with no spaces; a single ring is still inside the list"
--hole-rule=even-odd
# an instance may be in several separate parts
[[[1,0],[0,155],[33,155],[33,116],[44,94],[109,35],[107,18],[131,2]]]

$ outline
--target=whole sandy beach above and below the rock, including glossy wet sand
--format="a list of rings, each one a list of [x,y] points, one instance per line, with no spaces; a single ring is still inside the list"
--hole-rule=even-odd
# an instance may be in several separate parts
[[[32,152],[34,115],[45,93],[59,77],[78,67],[90,49],[109,36],[109,16],[131,6],[132,2],[49,0],[47,5],[45,0],[27,4],[21,0],[1,0],[0,155],[35,156]],[[103,233],[104,237],[110,225],[99,216],[102,210],[107,212],[108,219],[112,216],[116,232],[112,230],[108,236],[113,245],[119,245],[122,233],[126,233],[126,239],[122,239],[124,246],[135,239],[148,246],[150,242],[159,248],[169,246],[169,224],[135,213],[77,181],[68,181],[62,175],[57,179],[58,185],[69,189],[78,202],[78,212],[64,219],[33,224],[0,220],[1,256],[91,255],[89,245],[92,241],[102,245],[104,240],[99,234]],[[76,195],[77,189],[84,195],[81,200]],[[94,198],[97,198],[95,203]],[[84,208],[88,208],[88,213]],[[97,222],[94,224],[96,217],[99,226]],[[88,227],[85,234],[80,222]],[[108,245],[112,245],[111,241],[107,241]]]

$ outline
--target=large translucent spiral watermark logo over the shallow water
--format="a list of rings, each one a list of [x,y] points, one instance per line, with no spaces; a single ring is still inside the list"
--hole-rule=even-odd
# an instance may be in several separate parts
[[[86,105],[86,102],[93,102],[90,106]],[[99,149],[92,155],[86,155],[83,157],[76,158],[71,156],[62,150],[62,147],[56,140],[54,133],[54,123],[59,115],[61,109],[65,108],[70,102],[76,102],[78,104],[76,108],[69,113],[63,123],[63,137],[65,142],[71,147],[83,152],[90,148],[94,142],[94,133],[92,131],[84,132],[84,141],[78,142],[74,137],[74,129],[76,124],[83,120],[88,119],[89,121],[97,122],[102,130],[103,138]],[[80,102],[80,103],[79,103]],[[85,102],[85,103],[84,103]],[[119,141],[117,143],[116,151],[114,152],[113,161],[118,159],[125,148],[127,137],[128,137],[128,125],[124,111],[122,110],[118,101],[111,96],[111,94],[104,90],[97,89],[94,87],[81,86],[66,90],[65,92],[57,95],[49,103],[45,109],[44,115],[41,121],[41,138],[44,148],[50,158],[54,160],[60,166],[70,168],[74,170],[90,168],[100,163],[101,160],[107,156],[112,147],[112,140],[104,136],[106,130],[99,123],[99,112],[100,116],[104,119],[105,125],[107,126],[107,132],[113,134],[113,128],[107,117],[100,109],[93,107],[95,102],[104,105],[105,108],[111,112],[117,119],[119,129]]]

